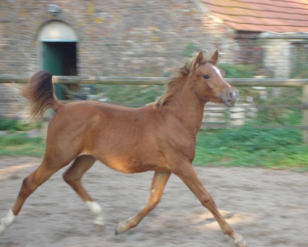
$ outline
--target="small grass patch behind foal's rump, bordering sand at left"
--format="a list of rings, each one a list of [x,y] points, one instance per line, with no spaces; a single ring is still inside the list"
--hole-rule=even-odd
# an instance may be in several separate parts
[[[0,137],[0,155],[44,154],[45,145],[41,137],[29,137],[27,133],[3,134]]]

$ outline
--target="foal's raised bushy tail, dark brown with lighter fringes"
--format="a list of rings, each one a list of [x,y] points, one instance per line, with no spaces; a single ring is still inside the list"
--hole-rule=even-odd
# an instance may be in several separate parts
[[[18,86],[18,94],[25,99],[26,113],[31,118],[43,118],[47,109],[56,111],[61,105],[53,93],[52,75],[48,71],[37,72],[26,85]]]

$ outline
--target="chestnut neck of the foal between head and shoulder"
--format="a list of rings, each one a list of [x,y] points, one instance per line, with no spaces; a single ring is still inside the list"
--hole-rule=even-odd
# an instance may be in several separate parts
[[[188,81],[170,99],[170,108],[195,134],[200,129],[205,101],[201,101]]]

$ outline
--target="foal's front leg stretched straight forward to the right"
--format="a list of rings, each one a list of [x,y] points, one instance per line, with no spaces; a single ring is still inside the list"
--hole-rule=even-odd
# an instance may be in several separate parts
[[[211,212],[211,214],[213,214],[214,218],[220,225],[223,234],[229,235],[237,247],[245,247],[246,241],[241,235],[236,233],[221,216],[213,198],[204,188],[203,184],[197,177],[194,168],[192,168],[192,165],[190,163],[183,164],[183,167],[177,169],[177,171],[174,173],[178,175],[178,177],[188,186],[192,193],[195,194],[195,196],[200,200],[201,204],[205,206]]]

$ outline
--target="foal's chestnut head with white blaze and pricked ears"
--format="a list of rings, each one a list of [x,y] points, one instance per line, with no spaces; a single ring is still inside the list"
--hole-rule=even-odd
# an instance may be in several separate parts
[[[196,93],[205,101],[224,103],[233,107],[238,99],[238,91],[224,80],[224,72],[216,66],[218,51],[209,60],[200,52],[192,61],[191,75],[196,76]]]

